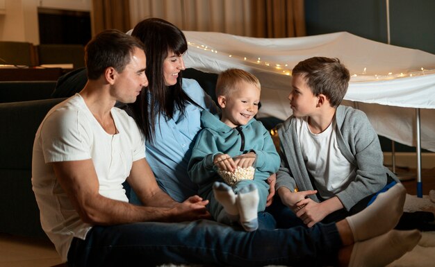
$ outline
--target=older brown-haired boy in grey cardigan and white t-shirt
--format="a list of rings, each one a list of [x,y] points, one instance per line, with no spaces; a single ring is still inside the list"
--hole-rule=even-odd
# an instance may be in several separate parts
[[[309,58],[293,69],[293,116],[278,128],[276,189],[308,227],[360,212],[387,183],[398,181],[382,165],[366,114],[340,105],[349,80],[349,71],[333,58]]]

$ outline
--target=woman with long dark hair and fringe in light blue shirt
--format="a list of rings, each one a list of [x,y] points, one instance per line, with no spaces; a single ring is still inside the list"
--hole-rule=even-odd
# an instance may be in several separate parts
[[[147,90],[131,105],[147,140],[147,160],[158,184],[174,200],[197,194],[187,172],[190,153],[201,129],[201,111],[217,107],[195,80],[181,78],[186,37],[163,19],[145,19],[132,32],[145,43]]]

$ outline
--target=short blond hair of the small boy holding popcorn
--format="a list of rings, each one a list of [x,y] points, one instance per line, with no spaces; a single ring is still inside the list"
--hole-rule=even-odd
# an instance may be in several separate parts
[[[216,82],[216,96],[229,96],[238,87],[238,83],[245,82],[261,89],[260,81],[256,76],[243,69],[227,69],[223,71]]]

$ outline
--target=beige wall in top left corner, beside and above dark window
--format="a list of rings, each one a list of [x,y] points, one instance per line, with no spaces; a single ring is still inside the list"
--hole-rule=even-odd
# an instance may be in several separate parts
[[[0,0],[0,41],[39,44],[38,7],[90,11],[91,0]]]

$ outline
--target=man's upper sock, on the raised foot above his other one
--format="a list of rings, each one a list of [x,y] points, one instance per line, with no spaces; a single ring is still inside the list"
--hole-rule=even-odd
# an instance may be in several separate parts
[[[346,218],[354,235],[354,241],[364,241],[393,229],[403,214],[407,191],[402,184],[395,184],[379,193],[372,205]]]

